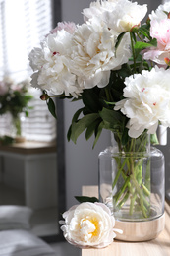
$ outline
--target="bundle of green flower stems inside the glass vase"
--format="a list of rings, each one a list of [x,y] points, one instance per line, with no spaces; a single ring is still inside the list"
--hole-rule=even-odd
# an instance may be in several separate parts
[[[140,139],[132,138],[122,146],[118,133],[115,141],[119,148],[119,155],[114,157],[117,173],[112,183],[115,209],[124,211],[121,208],[127,204],[130,218],[134,218],[137,211],[138,215],[142,215],[140,218],[147,218],[150,211],[150,160],[146,150],[148,136],[144,133]]]

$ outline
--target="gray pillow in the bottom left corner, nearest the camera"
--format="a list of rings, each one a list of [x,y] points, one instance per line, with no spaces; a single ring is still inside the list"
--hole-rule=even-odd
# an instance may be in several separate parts
[[[28,230],[0,231],[0,256],[56,256],[56,252]]]

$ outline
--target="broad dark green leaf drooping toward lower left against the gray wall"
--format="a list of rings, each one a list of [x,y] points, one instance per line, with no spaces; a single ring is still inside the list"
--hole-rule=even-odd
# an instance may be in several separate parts
[[[74,143],[76,143],[78,137],[81,133],[85,131],[85,129],[91,125],[99,117],[98,113],[92,113],[85,115],[78,122],[72,123],[72,131],[71,131],[71,139]]]

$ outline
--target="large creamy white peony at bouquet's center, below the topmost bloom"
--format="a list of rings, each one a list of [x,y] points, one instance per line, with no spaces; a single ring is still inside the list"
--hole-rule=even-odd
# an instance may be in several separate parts
[[[105,87],[111,69],[119,69],[131,56],[129,35],[126,34],[116,53],[115,43],[119,33],[102,26],[97,19],[78,27],[73,36],[72,72],[78,76],[81,88],[96,85]]]

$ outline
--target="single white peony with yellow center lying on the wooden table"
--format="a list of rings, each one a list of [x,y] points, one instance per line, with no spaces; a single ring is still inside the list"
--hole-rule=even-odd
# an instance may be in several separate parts
[[[63,214],[61,229],[66,240],[78,247],[103,248],[113,242],[115,219],[102,203],[82,203]],[[116,231],[121,232],[121,230]]]

